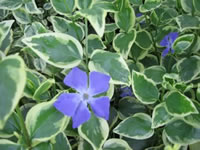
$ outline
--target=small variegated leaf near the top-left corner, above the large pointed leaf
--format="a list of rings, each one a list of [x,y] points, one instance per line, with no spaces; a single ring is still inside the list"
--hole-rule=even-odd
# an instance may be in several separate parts
[[[31,23],[31,16],[24,7],[20,7],[13,11],[13,16],[21,24]]]

